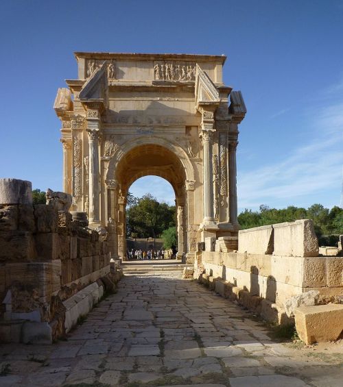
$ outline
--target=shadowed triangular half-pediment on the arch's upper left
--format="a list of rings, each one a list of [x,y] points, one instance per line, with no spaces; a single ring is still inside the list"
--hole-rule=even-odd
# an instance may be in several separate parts
[[[82,102],[86,101],[102,101],[105,103],[107,100],[107,62],[105,61],[102,66],[97,68],[88,78],[79,94],[79,99]]]

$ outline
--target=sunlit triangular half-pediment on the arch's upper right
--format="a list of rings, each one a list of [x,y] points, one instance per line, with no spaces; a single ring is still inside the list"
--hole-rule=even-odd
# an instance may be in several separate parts
[[[196,65],[196,110],[201,105],[218,105],[220,103],[219,91],[198,64]]]

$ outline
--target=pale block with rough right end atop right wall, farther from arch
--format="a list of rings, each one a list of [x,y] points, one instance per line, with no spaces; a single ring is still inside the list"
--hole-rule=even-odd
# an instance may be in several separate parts
[[[273,225],[274,255],[316,257],[319,253],[318,239],[310,219]]]

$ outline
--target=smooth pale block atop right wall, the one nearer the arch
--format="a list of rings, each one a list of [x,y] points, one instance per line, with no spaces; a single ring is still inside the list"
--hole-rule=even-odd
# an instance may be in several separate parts
[[[272,254],[273,250],[274,230],[272,225],[239,230],[239,253]]]

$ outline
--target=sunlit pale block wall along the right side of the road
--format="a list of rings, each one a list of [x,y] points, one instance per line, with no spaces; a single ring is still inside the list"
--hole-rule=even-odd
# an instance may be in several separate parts
[[[284,239],[274,239],[273,230]],[[343,295],[343,258],[317,256],[314,238],[309,220],[244,230],[237,252],[198,252],[194,277],[267,320],[289,323],[283,305],[290,298],[318,290],[318,302],[327,303]],[[291,256],[295,252],[303,256]]]

